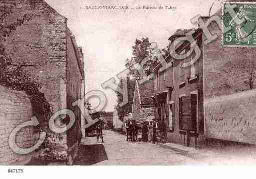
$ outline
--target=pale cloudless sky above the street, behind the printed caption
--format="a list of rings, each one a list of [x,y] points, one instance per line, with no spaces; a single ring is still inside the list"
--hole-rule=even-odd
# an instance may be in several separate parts
[[[136,38],[149,37],[159,48],[168,44],[176,29],[193,28],[195,15],[208,16],[215,0],[45,0],[67,17],[68,28],[83,48],[86,91],[101,90],[107,96],[106,111],[113,111],[116,94],[101,84],[125,69]],[[128,10],[86,10],[86,5],[128,5]],[[176,6],[176,9],[136,9],[137,6]],[[82,7],[82,8],[81,8]],[[131,9],[130,7],[134,8]],[[212,13],[221,7],[216,2]],[[116,78],[117,80],[117,78]],[[97,99],[90,101],[92,107]]]

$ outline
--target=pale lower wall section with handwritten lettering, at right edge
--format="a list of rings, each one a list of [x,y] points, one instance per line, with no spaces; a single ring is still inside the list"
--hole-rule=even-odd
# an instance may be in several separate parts
[[[256,90],[205,101],[208,138],[256,144]]]

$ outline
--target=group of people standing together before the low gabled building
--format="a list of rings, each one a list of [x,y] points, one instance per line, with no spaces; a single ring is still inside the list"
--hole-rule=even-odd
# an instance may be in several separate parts
[[[163,126],[163,125],[161,125]],[[142,136],[140,138],[141,141],[143,142],[152,142],[155,143],[157,141],[157,129],[158,128],[158,122],[156,120],[147,122],[144,121],[142,125]],[[125,123],[125,128],[126,128],[126,141],[131,140],[131,141],[137,141],[138,140],[138,131],[139,127],[136,124],[135,120],[130,120],[128,119]]]

